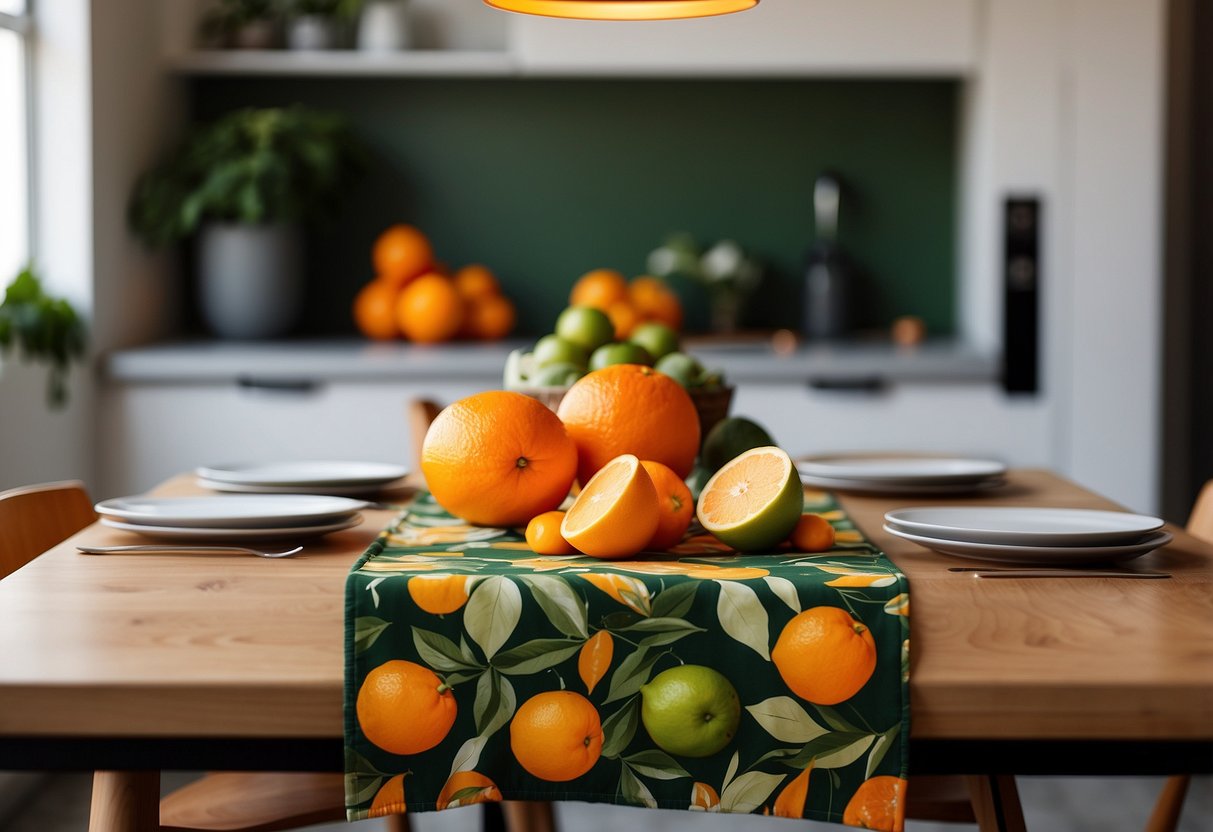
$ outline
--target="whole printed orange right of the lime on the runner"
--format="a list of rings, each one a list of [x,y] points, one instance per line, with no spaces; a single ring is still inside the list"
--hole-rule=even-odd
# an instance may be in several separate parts
[[[876,642],[847,610],[814,606],[784,626],[770,659],[797,696],[814,705],[837,705],[872,678]]]

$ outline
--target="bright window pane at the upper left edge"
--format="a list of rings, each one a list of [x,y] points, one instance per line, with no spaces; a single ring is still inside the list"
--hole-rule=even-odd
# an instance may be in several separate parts
[[[0,287],[32,252],[30,17],[25,0],[0,0]]]

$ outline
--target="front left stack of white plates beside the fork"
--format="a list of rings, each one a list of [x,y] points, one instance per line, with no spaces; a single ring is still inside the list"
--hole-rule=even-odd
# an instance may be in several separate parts
[[[147,537],[264,541],[318,537],[363,522],[368,503],[318,495],[115,497],[97,503],[102,525]]]

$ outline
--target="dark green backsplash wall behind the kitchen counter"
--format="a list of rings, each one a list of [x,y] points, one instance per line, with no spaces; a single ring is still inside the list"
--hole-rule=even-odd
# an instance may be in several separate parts
[[[353,331],[378,230],[411,222],[451,266],[483,262],[548,331],[583,272],[644,270],[670,232],[733,238],[767,263],[751,326],[798,327],[813,182],[844,182],[841,243],[860,318],[955,329],[958,85],[865,80],[205,79],[194,115],[303,104],[344,113],[370,149],[309,238],[304,331]],[[706,302],[678,286],[693,329]]]

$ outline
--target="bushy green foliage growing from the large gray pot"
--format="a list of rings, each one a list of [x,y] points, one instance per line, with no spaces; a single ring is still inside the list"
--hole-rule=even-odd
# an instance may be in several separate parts
[[[341,116],[294,107],[241,109],[195,132],[136,184],[129,218],[149,245],[204,221],[297,222],[331,210],[361,163]]]

